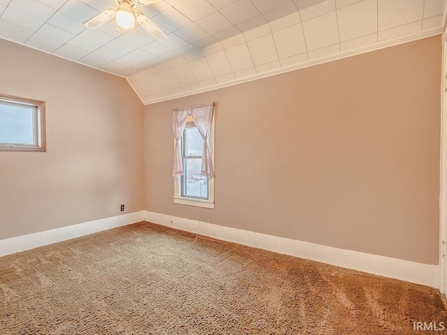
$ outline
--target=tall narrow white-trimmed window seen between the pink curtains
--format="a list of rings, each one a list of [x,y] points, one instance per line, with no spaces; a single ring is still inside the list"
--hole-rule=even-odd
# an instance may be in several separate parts
[[[212,161],[214,161],[214,121],[212,121],[208,145],[210,146]],[[203,138],[200,136],[191,115],[186,121],[180,146],[183,175],[174,179],[174,202],[176,204],[214,208],[214,178],[208,179],[200,173],[203,158]]]

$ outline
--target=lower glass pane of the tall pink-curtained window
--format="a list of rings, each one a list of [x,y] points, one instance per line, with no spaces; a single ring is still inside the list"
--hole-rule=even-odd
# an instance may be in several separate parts
[[[208,179],[200,175],[202,158],[184,158],[183,195],[208,198]]]

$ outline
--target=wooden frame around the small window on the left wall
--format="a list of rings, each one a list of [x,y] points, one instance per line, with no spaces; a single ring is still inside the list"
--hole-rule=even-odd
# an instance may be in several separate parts
[[[0,142],[0,151],[47,151],[45,138],[45,101],[0,94],[0,105],[8,104],[33,108],[33,136],[35,144]]]

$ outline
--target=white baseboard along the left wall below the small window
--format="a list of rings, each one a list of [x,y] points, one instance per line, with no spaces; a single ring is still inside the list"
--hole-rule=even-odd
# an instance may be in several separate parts
[[[27,234],[10,239],[0,240],[0,256],[18,253],[19,251],[46,246],[67,239],[74,239],[94,232],[101,232],[117,228],[122,225],[143,221],[145,211],[135,211],[134,213],[112,216],[111,218],[101,218],[95,221],[79,223],[78,225],[68,225],[67,227],[45,230],[35,234]]]

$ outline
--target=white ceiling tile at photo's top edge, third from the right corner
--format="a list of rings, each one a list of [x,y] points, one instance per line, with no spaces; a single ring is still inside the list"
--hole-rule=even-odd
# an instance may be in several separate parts
[[[377,0],[365,0],[337,11],[340,40],[352,40],[377,31]]]

